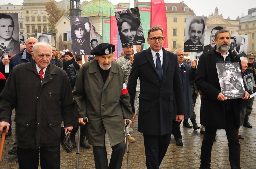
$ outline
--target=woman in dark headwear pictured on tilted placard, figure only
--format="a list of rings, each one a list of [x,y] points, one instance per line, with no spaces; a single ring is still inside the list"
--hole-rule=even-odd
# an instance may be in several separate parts
[[[140,19],[137,16],[131,13],[122,13],[117,21],[117,26],[123,47],[143,41],[144,36],[138,36],[137,34],[140,27]]]

